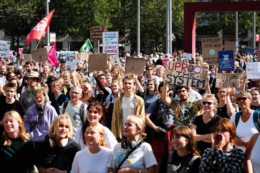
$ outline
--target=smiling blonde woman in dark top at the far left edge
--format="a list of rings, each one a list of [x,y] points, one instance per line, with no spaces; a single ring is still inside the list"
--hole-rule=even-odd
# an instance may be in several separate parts
[[[26,173],[35,165],[34,142],[25,132],[20,115],[8,111],[3,117],[3,141],[0,145],[0,167],[2,173]]]

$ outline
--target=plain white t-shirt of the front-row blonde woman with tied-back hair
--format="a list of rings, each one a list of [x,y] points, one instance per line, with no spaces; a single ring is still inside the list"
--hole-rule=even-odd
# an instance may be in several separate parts
[[[91,153],[88,147],[77,152],[70,173],[108,173],[112,150],[102,147],[98,153]]]

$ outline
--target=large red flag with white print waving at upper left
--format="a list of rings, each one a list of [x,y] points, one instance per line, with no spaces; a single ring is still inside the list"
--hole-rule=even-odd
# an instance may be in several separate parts
[[[29,45],[31,40],[36,39],[37,41],[39,41],[41,40],[41,37],[45,36],[54,10],[55,8],[50,13],[48,13],[48,15],[46,15],[42,20],[40,20],[40,22],[38,22],[36,26],[32,28],[32,30],[26,37],[27,45]]]

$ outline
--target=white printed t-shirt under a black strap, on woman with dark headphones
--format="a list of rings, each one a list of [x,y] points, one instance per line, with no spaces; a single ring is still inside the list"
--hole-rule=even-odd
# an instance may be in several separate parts
[[[122,149],[121,143],[116,144],[114,146],[113,154],[108,167],[115,170],[130,150],[131,149],[129,147],[127,147],[127,149]],[[144,142],[128,156],[120,169],[133,168],[138,170],[146,170],[153,165],[157,166],[157,162],[152,153],[151,146]]]

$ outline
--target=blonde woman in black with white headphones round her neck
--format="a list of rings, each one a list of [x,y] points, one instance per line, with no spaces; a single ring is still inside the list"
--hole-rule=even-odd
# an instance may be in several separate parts
[[[77,143],[72,142],[72,124],[69,116],[57,116],[48,131],[48,137],[41,146],[37,168],[39,173],[67,173],[71,170]]]

